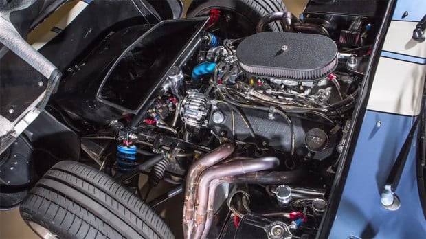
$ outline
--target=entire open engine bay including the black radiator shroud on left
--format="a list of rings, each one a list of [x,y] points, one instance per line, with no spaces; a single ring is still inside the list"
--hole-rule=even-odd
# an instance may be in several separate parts
[[[46,109],[140,198],[175,185],[148,205],[184,194],[183,238],[315,238],[381,20],[301,18],[273,12],[239,38],[205,17],[127,27],[69,67]]]

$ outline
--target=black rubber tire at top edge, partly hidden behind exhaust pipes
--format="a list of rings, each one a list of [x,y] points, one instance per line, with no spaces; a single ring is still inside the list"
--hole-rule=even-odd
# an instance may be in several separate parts
[[[246,16],[253,30],[263,16],[271,12],[286,12],[282,0],[194,0],[188,8],[187,17],[201,16],[212,9],[226,9]],[[279,22],[269,23],[273,32],[283,32]]]

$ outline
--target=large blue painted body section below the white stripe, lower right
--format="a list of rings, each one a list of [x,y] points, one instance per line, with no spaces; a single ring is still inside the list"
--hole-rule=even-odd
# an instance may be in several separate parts
[[[414,120],[366,111],[330,238],[426,238],[416,181],[415,142],[396,190],[401,207],[390,212],[380,202],[385,180]]]

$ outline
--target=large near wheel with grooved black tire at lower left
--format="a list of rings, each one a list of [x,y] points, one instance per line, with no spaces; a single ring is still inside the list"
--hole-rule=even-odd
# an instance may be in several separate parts
[[[42,238],[174,238],[139,197],[74,161],[56,163],[30,190],[20,211]]]

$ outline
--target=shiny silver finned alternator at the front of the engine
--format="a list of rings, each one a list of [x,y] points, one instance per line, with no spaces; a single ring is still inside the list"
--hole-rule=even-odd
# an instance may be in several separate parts
[[[206,127],[210,106],[210,100],[205,95],[196,91],[189,91],[182,102],[182,121],[193,128]]]

